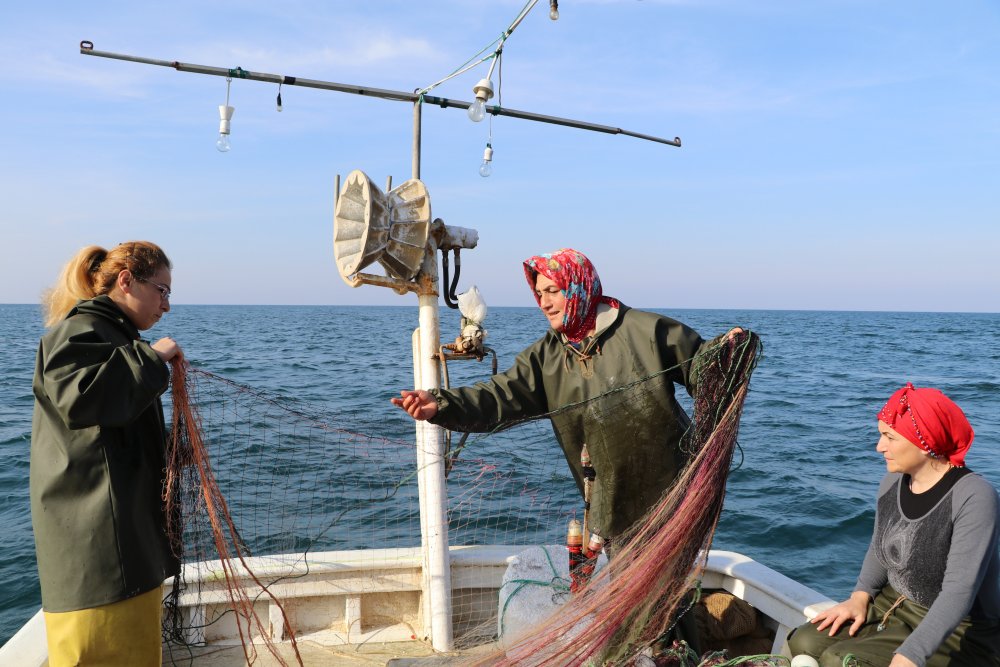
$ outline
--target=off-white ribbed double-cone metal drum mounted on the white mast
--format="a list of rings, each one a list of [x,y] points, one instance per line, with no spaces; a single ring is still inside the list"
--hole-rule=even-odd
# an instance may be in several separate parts
[[[333,216],[333,257],[351,287],[362,283],[394,286],[420,272],[431,226],[431,200],[422,182],[411,178],[383,194],[363,171],[347,175]],[[373,262],[383,276],[362,274]]]

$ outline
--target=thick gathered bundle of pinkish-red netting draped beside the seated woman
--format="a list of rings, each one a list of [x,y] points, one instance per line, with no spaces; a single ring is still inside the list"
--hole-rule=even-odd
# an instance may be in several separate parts
[[[580,594],[480,664],[625,664],[672,627],[708,557],[759,352],[756,334],[741,332],[694,359],[695,414],[682,440],[690,463]]]

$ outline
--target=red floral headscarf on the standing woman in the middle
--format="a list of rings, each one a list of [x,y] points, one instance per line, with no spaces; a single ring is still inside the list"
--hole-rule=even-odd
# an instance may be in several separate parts
[[[535,294],[539,273],[554,282],[566,297],[562,333],[571,343],[579,343],[594,328],[597,304],[607,303],[614,308],[619,305],[615,299],[603,296],[597,269],[582,252],[561,248],[524,261],[524,277],[540,306],[541,299]]]

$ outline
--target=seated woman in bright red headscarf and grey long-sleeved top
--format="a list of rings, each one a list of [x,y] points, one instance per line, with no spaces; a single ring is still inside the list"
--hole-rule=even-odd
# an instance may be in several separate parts
[[[789,638],[840,667],[1000,665],[1000,502],[965,467],[973,431],[941,391],[907,384],[878,413],[888,474],[851,597]]]

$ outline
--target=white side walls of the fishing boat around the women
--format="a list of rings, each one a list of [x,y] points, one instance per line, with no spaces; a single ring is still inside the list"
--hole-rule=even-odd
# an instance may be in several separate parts
[[[451,548],[453,596],[477,591],[480,603],[465,605],[463,628],[489,626],[497,616],[497,600],[511,559],[527,547],[471,546]],[[297,639],[322,646],[369,642],[413,642],[426,639],[422,612],[422,557],[419,548],[329,551],[255,557],[248,565],[261,581],[275,581],[272,594],[292,620]],[[198,645],[236,645],[232,615],[221,617],[228,600],[218,562],[185,566],[191,592],[181,596],[188,642]],[[784,638],[833,601],[788,577],[731,551],[713,550],[702,576],[703,589],[726,590],[748,602],[774,631],[774,653],[785,651]],[[251,596],[253,591],[251,590]],[[270,619],[272,639],[282,634],[278,605],[261,596],[261,618]],[[476,608],[478,607],[478,608]],[[213,621],[205,624],[205,621]],[[495,625],[493,626],[495,627]],[[463,628],[456,628],[460,634]],[[787,654],[786,654],[787,655]],[[0,647],[0,664],[43,667],[47,660],[45,623],[39,611]]]

